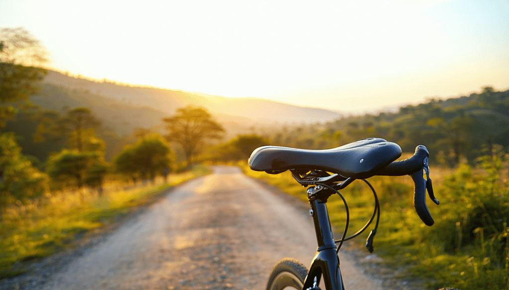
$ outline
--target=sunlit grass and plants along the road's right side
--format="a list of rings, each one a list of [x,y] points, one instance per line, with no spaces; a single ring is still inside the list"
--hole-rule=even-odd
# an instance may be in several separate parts
[[[307,201],[305,188],[290,172],[271,175],[252,171],[245,162],[239,166],[247,175]],[[435,219],[432,227],[415,213],[414,185],[409,176],[370,178],[381,206],[374,247],[383,265],[407,269],[406,274],[395,278],[425,280],[419,288],[509,289],[509,227],[503,221],[509,216],[509,190],[507,180],[500,176],[507,176],[506,170],[493,171],[490,166],[472,169],[464,165],[457,170],[432,167],[435,196],[440,200],[437,206],[427,198]],[[371,217],[374,198],[369,186],[360,180],[341,193],[350,211],[349,236]],[[331,223],[342,233],[346,221],[343,201],[332,196],[327,206]],[[373,228],[374,222],[353,240],[354,246],[369,253],[364,243]]]

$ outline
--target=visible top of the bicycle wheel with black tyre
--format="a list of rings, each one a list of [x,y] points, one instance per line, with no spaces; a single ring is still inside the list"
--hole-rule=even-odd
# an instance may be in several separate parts
[[[302,289],[307,269],[299,261],[285,258],[277,262],[270,273],[267,290],[282,290],[287,287]]]

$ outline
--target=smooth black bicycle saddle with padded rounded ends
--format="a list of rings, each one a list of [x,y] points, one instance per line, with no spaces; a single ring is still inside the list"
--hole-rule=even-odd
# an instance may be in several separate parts
[[[373,176],[400,156],[398,144],[381,138],[369,138],[325,150],[262,146],[251,153],[249,167],[269,173],[314,169],[362,179]]]

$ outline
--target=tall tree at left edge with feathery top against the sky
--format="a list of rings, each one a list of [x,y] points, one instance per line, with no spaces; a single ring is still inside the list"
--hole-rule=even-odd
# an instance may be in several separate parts
[[[34,66],[47,61],[46,51],[28,31],[0,28],[0,129],[16,110],[9,103],[26,100],[39,90],[47,71]]]

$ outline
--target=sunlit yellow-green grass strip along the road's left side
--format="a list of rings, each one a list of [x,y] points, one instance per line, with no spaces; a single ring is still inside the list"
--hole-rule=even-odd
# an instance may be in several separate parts
[[[110,182],[100,197],[88,189],[59,191],[8,206],[0,221],[0,279],[25,273],[30,263],[72,247],[86,233],[155,202],[162,191],[208,173],[197,166],[168,175],[167,182],[162,178],[141,186]]]

